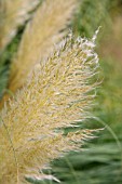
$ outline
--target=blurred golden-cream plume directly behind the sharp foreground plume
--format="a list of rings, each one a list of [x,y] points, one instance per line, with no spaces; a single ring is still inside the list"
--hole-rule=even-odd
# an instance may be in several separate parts
[[[64,36],[78,0],[45,0],[33,19],[27,25],[16,57],[12,62],[10,90],[21,88],[28,73],[40,58],[52,52],[53,45]]]

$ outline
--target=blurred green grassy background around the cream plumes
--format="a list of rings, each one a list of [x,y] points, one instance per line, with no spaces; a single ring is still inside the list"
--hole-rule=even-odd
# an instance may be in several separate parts
[[[81,153],[70,153],[52,162],[53,169],[45,172],[53,173],[63,184],[122,184],[122,0],[81,0],[71,24],[74,34],[92,38],[99,26],[96,50],[103,82],[96,90],[92,111],[95,118],[82,127],[104,130]],[[10,61],[23,29],[0,54],[0,97],[6,91]]]

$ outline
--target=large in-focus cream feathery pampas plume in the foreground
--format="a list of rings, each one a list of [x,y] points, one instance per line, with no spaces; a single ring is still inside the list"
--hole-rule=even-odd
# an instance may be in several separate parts
[[[92,137],[92,130],[66,134],[62,128],[73,128],[89,115],[94,97],[89,92],[96,87],[91,79],[98,67],[94,39],[64,39],[2,109],[0,183],[24,183],[24,175],[42,180],[46,176],[39,170],[46,163]]]

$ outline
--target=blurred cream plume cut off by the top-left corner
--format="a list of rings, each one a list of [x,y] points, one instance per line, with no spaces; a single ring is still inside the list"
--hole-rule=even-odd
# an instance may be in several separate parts
[[[0,50],[16,35],[39,0],[0,0]]]

